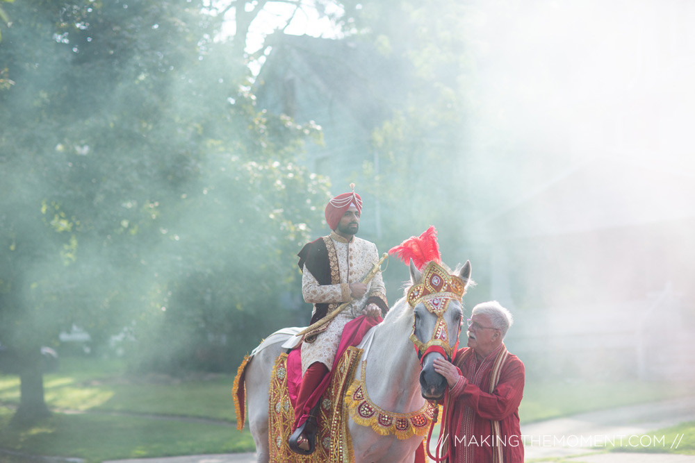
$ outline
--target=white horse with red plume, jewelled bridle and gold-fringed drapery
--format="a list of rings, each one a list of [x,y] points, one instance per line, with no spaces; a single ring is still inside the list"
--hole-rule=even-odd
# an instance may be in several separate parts
[[[428,429],[431,434],[439,413],[436,400],[447,388],[433,362],[455,355],[461,297],[471,283],[471,266],[466,262],[449,273],[439,257],[434,227],[390,253],[409,262],[411,286],[366,335],[369,342],[348,348],[341,357],[334,369],[338,375],[320,401],[320,430],[312,455],[294,454],[286,444],[293,408],[282,345],[293,334],[273,333],[239,367],[233,389],[239,399],[237,423],[243,426],[245,397],[259,463],[427,461],[430,439],[423,436]],[[391,380],[384,387],[387,378]]]

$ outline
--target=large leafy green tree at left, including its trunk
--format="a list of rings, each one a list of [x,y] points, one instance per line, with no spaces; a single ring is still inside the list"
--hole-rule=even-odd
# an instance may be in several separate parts
[[[15,421],[47,414],[39,347],[73,324],[178,368],[288,318],[280,296],[326,197],[295,158],[320,134],[256,109],[249,57],[215,40],[204,3],[6,8],[0,343],[20,359]]]

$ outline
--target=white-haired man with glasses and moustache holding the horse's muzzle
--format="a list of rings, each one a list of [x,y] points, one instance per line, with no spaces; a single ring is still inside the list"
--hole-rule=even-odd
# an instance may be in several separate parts
[[[523,463],[524,366],[502,344],[509,326],[512,314],[497,301],[478,304],[468,319],[468,347],[454,364],[434,360],[450,387],[449,463]]]

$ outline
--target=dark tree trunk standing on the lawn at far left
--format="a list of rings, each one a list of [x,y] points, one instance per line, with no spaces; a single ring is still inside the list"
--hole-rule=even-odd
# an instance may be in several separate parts
[[[19,408],[12,418],[13,423],[30,424],[51,414],[44,400],[43,371],[40,348],[20,356],[23,360],[19,372]]]

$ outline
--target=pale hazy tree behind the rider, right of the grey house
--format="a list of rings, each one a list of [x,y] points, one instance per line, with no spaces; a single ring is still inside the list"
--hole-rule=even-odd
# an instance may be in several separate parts
[[[495,60],[491,22],[516,26],[518,2],[384,0],[350,2],[350,31],[384,56],[409,63],[409,92],[373,131],[378,165],[366,162],[360,185],[382,204],[382,241],[398,243],[430,224],[443,255],[470,253],[471,225],[509,201],[518,153],[505,119],[507,101],[487,82]],[[540,2],[531,2],[536,8]],[[407,68],[404,66],[404,68]],[[496,74],[498,76],[498,74]],[[378,78],[378,76],[375,76]],[[506,88],[506,87],[505,87]],[[507,125],[505,125],[505,123]],[[503,179],[503,180],[500,180]],[[491,187],[495,185],[495,187]],[[403,193],[408,210],[402,214]],[[404,231],[407,230],[407,231]]]

